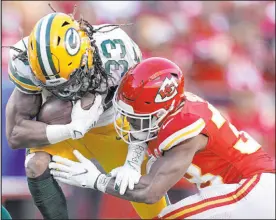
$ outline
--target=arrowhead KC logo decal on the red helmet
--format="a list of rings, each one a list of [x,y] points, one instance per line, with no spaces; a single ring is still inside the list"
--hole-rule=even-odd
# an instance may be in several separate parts
[[[177,94],[177,82],[175,81],[174,77],[168,79],[166,78],[161,85],[156,97],[155,102],[166,102],[172,99]]]

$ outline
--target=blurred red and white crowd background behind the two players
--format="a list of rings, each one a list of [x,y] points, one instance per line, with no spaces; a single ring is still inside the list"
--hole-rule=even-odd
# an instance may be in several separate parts
[[[218,107],[275,157],[275,1],[51,2],[64,13],[72,13],[75,4],[75,18],[81,14],[91,24],[133,23],[122,28],[140,46],[143,58],[161,56],[176,62],[185,73],[186,90]],[[52,12],[43,1],[4,1],[2,7],[4,46],[27,36]],[[9,187],[3,185],[2,192],[7,192],[4,200],[12,215],[38,218],[28,192],[11,196],[19,186],[8,184],[14,183],[11,176],[21,176],[26,184],[24,151],[10,150],[5,139],[5,105],[13,89],[8,50],[2,49],[2,174]],[[170,190],[170,199],[177,201],[194,190],[183,181]],[[137,218],[128,202],[111,196],[70,187],[67,196],[72,218]]]

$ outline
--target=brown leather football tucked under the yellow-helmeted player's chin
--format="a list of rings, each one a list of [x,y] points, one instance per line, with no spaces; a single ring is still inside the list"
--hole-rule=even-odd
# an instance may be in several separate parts
[[[81,99],[81,107],[85,110],[89,109],[94,99],[95,95],[87,93]],[[63,101],[52,96],[41,106],[36,119],[49,125],[68,124],[71,122],[72,108],[71,101]]]

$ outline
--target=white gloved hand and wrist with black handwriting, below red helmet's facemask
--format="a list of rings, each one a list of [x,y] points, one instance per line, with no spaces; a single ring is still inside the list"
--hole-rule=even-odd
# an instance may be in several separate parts
[[[114,188],[123,195],[127,188],[134,189],[141,177],[141,165],[147,151],[147,144],[130,144],[128,146],[128,154],[125,164],[121,167],[113,169],[111,177],[116,177]]]

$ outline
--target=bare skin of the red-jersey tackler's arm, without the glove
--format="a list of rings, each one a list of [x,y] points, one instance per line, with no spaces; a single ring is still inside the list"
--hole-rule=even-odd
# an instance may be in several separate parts
[[[142,176],[133,190],[127,189],[124,195],[120,195],[114,190],[115,179],[112,179],[106,193],[133,202],[158,202],[184,176],[196,152],[202,150],[207,142],[208,138],[200,134],[178,144],[156,160],[149,174]]]

